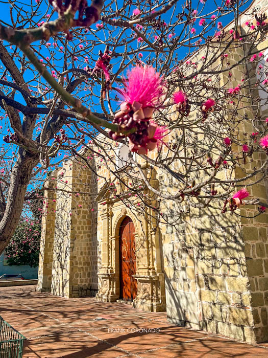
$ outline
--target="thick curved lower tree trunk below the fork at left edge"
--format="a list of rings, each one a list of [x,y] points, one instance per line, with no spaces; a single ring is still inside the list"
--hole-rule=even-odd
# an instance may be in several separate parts
[[[38,157],[20,153],[12,168],[6,210],[0,221],[0,255],[7,247],[18,225],[27,187]]]

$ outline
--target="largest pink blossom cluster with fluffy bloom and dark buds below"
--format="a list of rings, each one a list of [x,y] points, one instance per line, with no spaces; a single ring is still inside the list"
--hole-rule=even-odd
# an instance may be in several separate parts
[[[137,65],[127,74],[125,88],[119,89],[124,102],[113,123],[130,132],[125,135],[120,131],[110,131],[110,136],[114,140],[128,137],[131,151],[147,154],[159,147],[167,134],[166,127],[158,126],[152,120],[155,108],[161,105],[164,82],[152,66]]]

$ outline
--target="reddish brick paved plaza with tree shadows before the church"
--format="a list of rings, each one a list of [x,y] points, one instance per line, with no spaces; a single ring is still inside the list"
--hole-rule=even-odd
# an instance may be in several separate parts
[[[0,310],[27,338],[23,358],[268,357],[267,343],[239,343],[177,327],[167,322],[165,312],[93,298],[64,299],[36,293],[35,286],[1,287]]]

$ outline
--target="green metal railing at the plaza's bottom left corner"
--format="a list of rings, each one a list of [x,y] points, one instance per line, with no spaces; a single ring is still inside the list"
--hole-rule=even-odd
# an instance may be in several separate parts
[[[0,316],[0,358],[21,358],[25,339]]]

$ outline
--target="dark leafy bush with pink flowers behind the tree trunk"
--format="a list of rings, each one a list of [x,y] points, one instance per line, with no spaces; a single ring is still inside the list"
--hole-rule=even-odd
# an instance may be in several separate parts
[[[8,264],[38,266],[40,234],[39,218],[21,219],[5,250]]]

